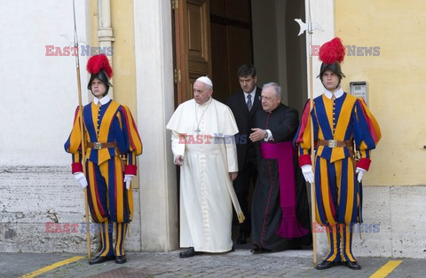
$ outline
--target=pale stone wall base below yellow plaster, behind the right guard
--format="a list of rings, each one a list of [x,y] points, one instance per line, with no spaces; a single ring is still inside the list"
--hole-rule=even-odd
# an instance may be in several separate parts
[[[355,227],[355,257],[426,258],[426,187],[364,187],[364,223]],[[327,234],[318,235],[319,254]]]

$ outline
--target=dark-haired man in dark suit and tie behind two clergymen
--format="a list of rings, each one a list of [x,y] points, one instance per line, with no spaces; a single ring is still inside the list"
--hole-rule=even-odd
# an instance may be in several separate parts
[[[260,107],[260,94],[262,90],[256,86],[256,68],[253,65],[244,64],[237,72],[241,91],[229,96],[226,104],[233,111],[237,122],[239,133],[236,135],[237,155],[238,155],[238,177],[233,181],[233,187],[241,205],[241,210],[247,217],[240,224],[240,235],[237,244],[247,243],[247,238],[251,233],[251,217],[248,204],[248,189],[250,181],[256,184],[256,148],[248,139],[251,133],[253,116]]]

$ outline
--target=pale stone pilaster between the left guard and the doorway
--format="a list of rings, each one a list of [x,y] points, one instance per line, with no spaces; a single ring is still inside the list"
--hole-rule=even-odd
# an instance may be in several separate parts
[[[174,111],[170,0],[134,1],[142,250],[178,247],[177,179],[170,131]]]

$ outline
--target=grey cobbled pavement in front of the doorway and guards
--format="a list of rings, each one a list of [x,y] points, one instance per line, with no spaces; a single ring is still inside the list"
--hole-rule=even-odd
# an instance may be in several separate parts
[[[287,250],[253,255],[248,249],[225,254],[178,258],[171,252],[129,252],[128,262],[90,266],[85,258],[37,277],[369,277],[390,259],[402,260],[387,277],[426,277],[426,259],[358,258],[362,269],[336,266],[324,271],[312,267],[312,250]],[[84,256],[84,254],[81,254]],[[76,254],[0,253],[0,277],[20,277]],[[320,258],[319,258],[320,260]]]

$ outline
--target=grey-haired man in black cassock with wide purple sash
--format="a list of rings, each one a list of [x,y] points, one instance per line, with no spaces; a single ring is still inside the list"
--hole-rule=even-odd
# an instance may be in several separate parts
[[[252,203],[252,252],[299,249],[312,238],[306,185],[292,146],[298,113],[280,103],[277,83],[265,84],[261,98],[263,109],[256,112],[250,136],[256,141],[259,171]]]

